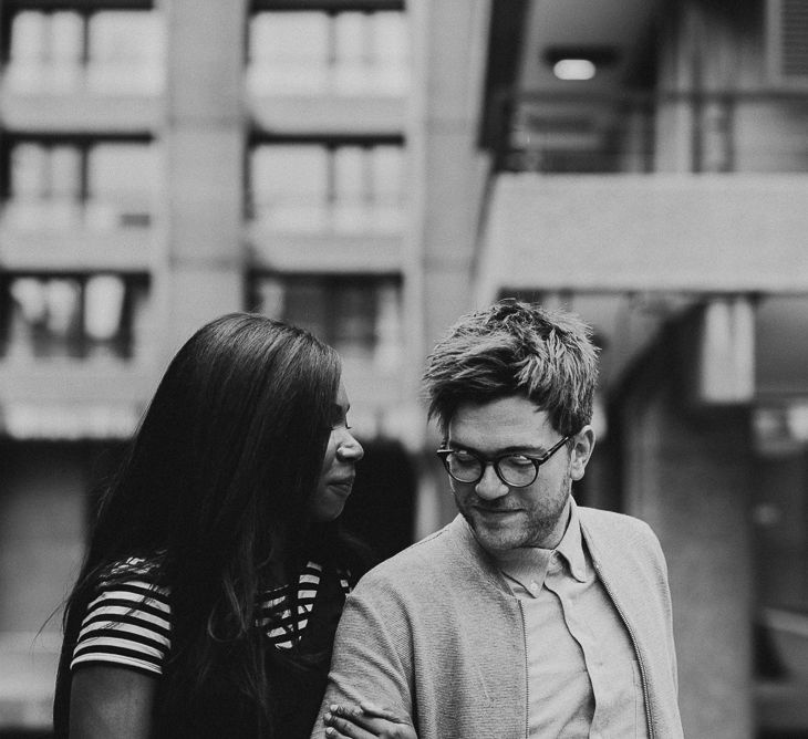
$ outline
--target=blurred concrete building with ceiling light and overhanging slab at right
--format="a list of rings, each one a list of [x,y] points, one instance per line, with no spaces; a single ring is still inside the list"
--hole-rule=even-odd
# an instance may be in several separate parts
[[[476,299],[595,326],[607,433],[581,496],[667,552],[685,735],[801,736],[806,7],[490,9]]]

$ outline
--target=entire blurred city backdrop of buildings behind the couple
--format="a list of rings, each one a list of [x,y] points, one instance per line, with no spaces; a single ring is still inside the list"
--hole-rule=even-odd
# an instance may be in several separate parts
[[[336,347],[389,555],[454,514],[424,357],[503,296],[595,329],[577,496],[662,540],[686,735],[808,736],[805,0],[0,0],[0,736],[48,736],[99,490],[196,327]]]

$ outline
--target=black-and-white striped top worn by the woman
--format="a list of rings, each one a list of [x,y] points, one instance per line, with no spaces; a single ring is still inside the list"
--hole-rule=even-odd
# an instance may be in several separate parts
[[[121,580],[122,572],[128,575]],[[87,605],[71,669],[90,663],[104,663],[162,675],[172,646],[169,589],[157,585],[152,568],[142,559],[131,558],[114,566],[99,582],[96,596]],[[298,580],[297,615],[289,603],[290,586],[267,591],[258,605],[256,626],[269,643],[291,649],[302,638],[320,589],[322,566],[308,562]],[[340,586],[351,591],[348,574],[338,572]],[[294,621],[297,618],[297,635]]]

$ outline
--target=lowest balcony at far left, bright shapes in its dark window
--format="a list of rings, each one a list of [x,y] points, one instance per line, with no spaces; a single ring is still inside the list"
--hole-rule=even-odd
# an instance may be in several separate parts
[[[0,433],[20,439],[127,438],[156,382],[146,274],[6,272]]]

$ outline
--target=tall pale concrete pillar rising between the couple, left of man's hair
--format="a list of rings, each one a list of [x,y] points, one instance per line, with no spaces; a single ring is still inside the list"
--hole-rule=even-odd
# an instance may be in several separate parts
[[[408,378],[419,397],[421,374],[435,340],[472,304],[472,270],[486,159],[477,135],[490,0],[413,0],[413,98],[407,127],[412,230],[405,266]],[[413,414],[423,428],[423,408]],[[424,441],[432,460],[434,435]],[[445,475],[425,462],[416,534],[436,529],[455,508]]]

